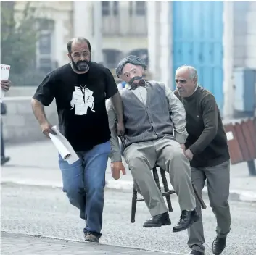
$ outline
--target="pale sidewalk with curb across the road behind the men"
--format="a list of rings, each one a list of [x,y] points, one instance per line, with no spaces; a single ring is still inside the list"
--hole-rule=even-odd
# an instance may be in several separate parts
[[[11,156],[11,160],[1,167],[1,183],[11,182],[62,188],[57,151],[51,141],[10,146],[7,147],[6,154]],[[108,162],[106,188],[131,191],[133,186],[131,172],[126,164],[125,168],[126,175],[120,180],[114,180],[111,175],[110,162]],[[204,193],[207,194],[206,187]],[[246,163],[231,165],[230,193],[231,199],[256,201],[256,177],[249,177]]]

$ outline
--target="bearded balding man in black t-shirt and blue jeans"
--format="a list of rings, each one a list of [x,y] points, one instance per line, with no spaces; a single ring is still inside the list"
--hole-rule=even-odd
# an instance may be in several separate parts
[[[115,105],[120,134],[124,133],[123,105],[110,70],[91,62],[91,44],[86,38],[73,38],[67,43],[67,50],[70,63],[46,75],[33,96],[32,108],[42,132],[49,137],[54,130],[46,119],[44,106],[56,100],[59,130],[79,156],[70,165],[59,155],[63,191],[86,220],[85,240],[99,242],[110,154],[105,100],[110,98]]]

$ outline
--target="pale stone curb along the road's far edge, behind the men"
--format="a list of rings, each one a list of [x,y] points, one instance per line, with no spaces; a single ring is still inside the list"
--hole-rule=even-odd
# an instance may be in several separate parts
[[[49,182],[41,182],[30,179],[18,180],[15,178],[1,178],[1,184],[18,184],[18,185],[35,185],[42,187],[51,187],[51,188],[62,188],[62,183],[52,183]],[[131,181],[123,181],[123,180],[106,180],[106,188],[117,190],[117,191],[132,191],[133,182]],[[203,189],[203,197],[207,197],[207,187]],[[229,198],[233,201],[247,201],[247,202],[256,202],[256,193],[252,191],[245,190],[230,190]]]

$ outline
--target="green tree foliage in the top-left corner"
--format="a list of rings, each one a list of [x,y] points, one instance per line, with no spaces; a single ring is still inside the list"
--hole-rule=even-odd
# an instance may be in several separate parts
[[[1,64],[11,65],[11,73],[24,74],[36,61],[36,18],[26,1],[21,19],[15,20],[15,1],[1,1]]]

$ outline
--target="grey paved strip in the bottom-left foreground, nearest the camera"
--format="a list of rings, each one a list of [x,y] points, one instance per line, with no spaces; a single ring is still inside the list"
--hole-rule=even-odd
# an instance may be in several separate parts
[[[1,232],[2,255],[178,255],[135,248],[107,246],[99,243],[65,241]]]

